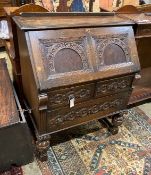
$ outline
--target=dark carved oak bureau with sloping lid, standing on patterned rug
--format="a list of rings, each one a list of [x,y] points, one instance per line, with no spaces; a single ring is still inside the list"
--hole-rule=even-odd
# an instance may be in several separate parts
[[[108,116],[116,125],[114,116],[126,109],[140,69],[133,23],[117,16],[72,13],[13,19],[40,158],[46,157],[52,133]]]

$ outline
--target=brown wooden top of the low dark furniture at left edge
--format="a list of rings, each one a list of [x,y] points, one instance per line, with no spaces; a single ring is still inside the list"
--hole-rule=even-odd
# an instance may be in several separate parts
[[[0,127],[19,120],[13,89],[4,59],[0,59]]]

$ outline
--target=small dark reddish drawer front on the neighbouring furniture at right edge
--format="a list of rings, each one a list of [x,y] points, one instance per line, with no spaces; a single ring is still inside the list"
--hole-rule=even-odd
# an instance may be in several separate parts
[[[151,25],[140,25],[137,30],[137,36],[151,35]]]

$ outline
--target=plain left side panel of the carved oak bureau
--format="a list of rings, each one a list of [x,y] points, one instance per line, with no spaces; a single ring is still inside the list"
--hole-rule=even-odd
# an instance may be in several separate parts
[[[19,40],[19,53],[21,63],[21,75],[23,92],[25,99],[27,100],[32,114],[34,116],[35,123],[40,133],[45,130],[45,115],[41,117],[39,112],[39,99],[38,99],[38,81],[36,81],[34,70],[31,62],[31,50],[28,33],[24,33],[21,30],[17,30]],[[38,59],[38,58],[37,58]]]

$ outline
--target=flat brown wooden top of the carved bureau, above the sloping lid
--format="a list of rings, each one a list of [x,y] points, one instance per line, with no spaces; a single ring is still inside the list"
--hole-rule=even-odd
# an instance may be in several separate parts
[[[55,28],[72,28],[72,27],[99,27],[99,26],[116,26],[116,25],[132,25],[129,19],[124,19],[116,15],[99,14],[54,14],[41,13],[25,16],[13,17],[17,25],[22,30],[35,29],[55,29]]]

